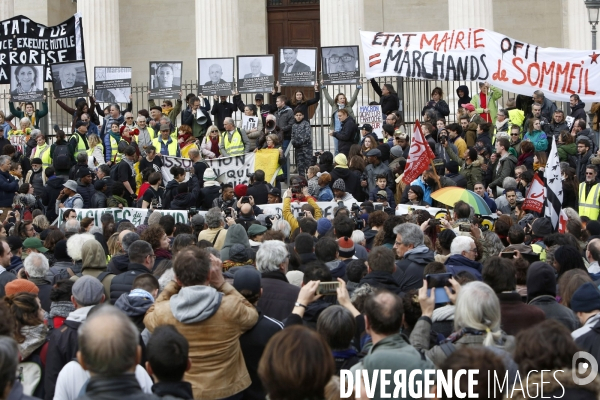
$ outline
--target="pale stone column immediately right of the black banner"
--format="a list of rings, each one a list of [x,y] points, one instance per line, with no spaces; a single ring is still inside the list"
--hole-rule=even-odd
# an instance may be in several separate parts
[[[94,82],[94,67],[121,65],[119,0],[78,0],[85,46],[88,84]]]

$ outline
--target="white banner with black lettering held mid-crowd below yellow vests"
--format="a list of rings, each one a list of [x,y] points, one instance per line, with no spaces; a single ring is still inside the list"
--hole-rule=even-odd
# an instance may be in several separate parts
[[[192,168],[192,161],[187,158],[162,156],[163,167],[161,173],[163,175],[163,184],[173,180],[171,175],[171,168],[174,166],[182,167],[184,169]],[[254,153],[246,153],[237,157],[223,157],[215,158],[213,160],[204,160],[210,168],[215,171],[218,176],[223,175],[223,182],[231,183],[235,185],[248,184],[249,178],[248,173],[254,172]],[[186,174],[186,181],[189,178],[189,174]]]

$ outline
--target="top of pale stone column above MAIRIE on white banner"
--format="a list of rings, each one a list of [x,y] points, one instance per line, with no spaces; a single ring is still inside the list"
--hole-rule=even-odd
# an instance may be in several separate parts
[[[448,0],[449,29],[494,29],[492,0]]]

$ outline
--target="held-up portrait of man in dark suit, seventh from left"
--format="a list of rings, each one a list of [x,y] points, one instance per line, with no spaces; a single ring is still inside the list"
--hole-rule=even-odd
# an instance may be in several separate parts
[[[313,86],[317,69],[316,48],[279,49],[279,83],[281,86]]]

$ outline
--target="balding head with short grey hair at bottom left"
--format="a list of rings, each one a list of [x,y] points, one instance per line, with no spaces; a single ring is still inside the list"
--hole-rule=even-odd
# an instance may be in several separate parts
[[[106,326],[111,329],[104,329]],[[117,377],[136,365],[139,331],[114,306],[100,306],[79,327],[77,338],[81,358],[93,374]]]

